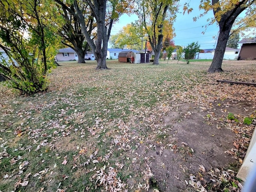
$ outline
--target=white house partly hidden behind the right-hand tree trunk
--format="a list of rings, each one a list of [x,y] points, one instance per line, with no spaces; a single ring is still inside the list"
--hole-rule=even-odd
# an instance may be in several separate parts
[[[213,59],[215,49],[203,49],[204,53],[197,52],[195,59]],[[240,49],[226,47],[223,59],[237,59]]]

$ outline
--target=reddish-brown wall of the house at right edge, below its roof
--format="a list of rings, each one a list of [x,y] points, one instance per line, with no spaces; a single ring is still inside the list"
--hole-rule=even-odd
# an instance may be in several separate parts
[[[255,60],[256,59],[256,43],[242,44],[239,56],[241,60]]]

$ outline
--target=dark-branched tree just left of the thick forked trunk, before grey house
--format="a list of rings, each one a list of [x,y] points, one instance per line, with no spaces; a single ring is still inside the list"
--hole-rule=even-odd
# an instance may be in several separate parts
[[[83,5],[82,8],[84,14],[84,21],[88,34],[91,35],[92,30],[96,27],[92,16],[86,17],[88,10],[88,5]],[[70,9],[74,11],[74,6],[71,5]],[[78,55],[78,63],[85,63],[84,56],[88,50],[89,44],[85,41],[84,35],[82,33],[81,24],[78,22],[77,18],[67,12],[65,8],[62,8],[62,17],[64,18],[64,24],[60,23],[62,27],[59,30],[60,36],[64,38],[62,43],[70,48],[72,48]],[[60,10],[61,11],[61,10]],[[95,36],[92,37],[92,39]]]

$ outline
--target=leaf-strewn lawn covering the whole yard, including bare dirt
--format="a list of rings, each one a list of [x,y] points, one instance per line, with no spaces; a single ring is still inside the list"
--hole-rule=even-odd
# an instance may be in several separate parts
[[[255,62],[63,62],[49,90],[0,84],[0,191],[241,191]]]

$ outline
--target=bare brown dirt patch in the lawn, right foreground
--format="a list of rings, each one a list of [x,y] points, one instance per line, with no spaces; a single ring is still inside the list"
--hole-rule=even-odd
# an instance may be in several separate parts
[[[219,112],[215,110],[216,114]],[[192,104],[182,104],[164,117],[166,126],[171,127],[168,140],[175,142],[170,148],[157,148],[146,154],[151,157],[148,164],[160,191],[185,190],[185,180],[198,172],[199,165],[209,170],[234,163],[234,158],[224,152],[234,147],[236,134],[208,124],[207,114]]]

